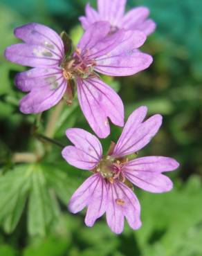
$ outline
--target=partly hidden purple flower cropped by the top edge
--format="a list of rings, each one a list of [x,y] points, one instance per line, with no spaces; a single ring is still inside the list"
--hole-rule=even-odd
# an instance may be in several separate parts
[[[143,6],[129,10],[125,15],[126,0],[98,0],[98,12],[86,5],[86,17],[80,17],[84,30],[97,21],[109,21],[111,31],[119,28],[126,30],[140,30],[146,35],[154,32],[156,24],[152,19],[147,19],[149,9]]]

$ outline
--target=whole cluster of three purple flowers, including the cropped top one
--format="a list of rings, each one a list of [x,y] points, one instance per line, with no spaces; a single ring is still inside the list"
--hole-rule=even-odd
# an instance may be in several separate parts
[[[126,0],[98,0],[98,11],[87,4],[86,16],[80,17],[84,34],[73,51],[66,33],[59,36],[36,23],[15,29],[15,36],[24,43],[8,46],[5,57],[31,67],[15,77],[16,86],[28,93],[20,101],[21,112],[40,113],[61,100],[69,105],[75,86],[80,108],[98,137],[109,136],[109,119],[114,125],[124,126],[122,100],[99,73],[127,76],[148,68],[152,56],[139,48],[156,27],[148,19],[147,8],[134,8],[124,14],[125,4]],[[98,138],[89,132],[75,128],[66,131],[74,146],[65,147],[62,156],[69,164],[93,172],[68,205],[73,213],[87,207],[87,226],[93,226],[106,212],[113,232],[122,232],[125,217],[131,228],[140,228],[140,204],[133,184],[149,192],[172,189],[172,182],[162,172],[178,167],[174,159],[133,159],[133,154],[149,143],[162,122],[160,115],[143,122],[146,113],[147,108],[140,107],[129,116],[118,143],[111,144],[106,156],[102,155]]]

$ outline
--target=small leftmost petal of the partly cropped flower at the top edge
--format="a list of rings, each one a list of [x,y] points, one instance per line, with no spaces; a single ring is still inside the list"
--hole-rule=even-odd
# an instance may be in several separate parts
[[[91,8],[90,4],[87,3],[86,17],[82,16],[79,18],[79,20],[81,21],[84,30],[86,30],[87,28],[89,28],[89,26],[91,26],[91,24],[95,23],[96,21],[100,21],[101,19],[98,12],[95,9]]]

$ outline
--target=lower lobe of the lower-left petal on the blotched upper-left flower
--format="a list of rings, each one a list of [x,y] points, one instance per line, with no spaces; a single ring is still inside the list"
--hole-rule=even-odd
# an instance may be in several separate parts
[[[55,106],[66,91],[66,80],[61,77],[57,81],[57,89],[49,84],[33,89],[20,101],[20,111],[23,113],[40,113]]]

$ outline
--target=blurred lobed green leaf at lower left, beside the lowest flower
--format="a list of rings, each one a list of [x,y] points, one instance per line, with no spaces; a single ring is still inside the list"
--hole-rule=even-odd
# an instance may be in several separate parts
[[[18,165],[9,170],[0,176],[0,221],[4,230],[15,230],[28,199],[28,232],[45,236],[59,221],[56,196],[66,205],[79,185],[55,165]]]

